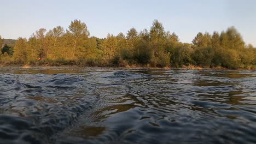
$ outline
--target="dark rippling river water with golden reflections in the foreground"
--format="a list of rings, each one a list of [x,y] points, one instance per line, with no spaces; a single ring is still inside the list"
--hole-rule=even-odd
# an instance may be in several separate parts
[[[0,69],[0,143],[256,143],[256,71]]]

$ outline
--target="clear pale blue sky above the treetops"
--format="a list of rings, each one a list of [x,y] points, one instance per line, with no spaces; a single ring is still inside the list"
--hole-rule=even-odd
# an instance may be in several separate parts
[[[39,28],[66,29],[74,19],[85,22],[91,35],[103,38],[131,27],[149,29],[158,19],[182,42],[191,43],[198,32],[235,26],[247,44],[256,46],[255,0],[5,0],[0,10],[0,35],[5,39],[28,38]]]

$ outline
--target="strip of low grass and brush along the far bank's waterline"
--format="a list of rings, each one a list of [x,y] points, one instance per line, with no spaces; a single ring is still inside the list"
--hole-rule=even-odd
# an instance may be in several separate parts
[[[256,69],[256,65],[237,65],[237,67],[229,68],[223,66],[210,66],[210,67],[202,67],[200,65],[187,64],[187,65],[171,65],[170,63],[161,62],[164,64],[155,64],[153,62],[146,64],[139,64],[135,61],[126,61],[122,58],[113,58],[110,60],[103,59],[40,59],[33,61],[14,61],[11,57],[2,57],[0,59],[0,65],[3,66],[22,66],[22,65],[30,65],[31,67],[36,66],[63,66],[63,65],[76,65],[79,67],[124,67],[124,68],[138,68],[138,67],[146,67],[146,68],[183,68],[183,69]]]

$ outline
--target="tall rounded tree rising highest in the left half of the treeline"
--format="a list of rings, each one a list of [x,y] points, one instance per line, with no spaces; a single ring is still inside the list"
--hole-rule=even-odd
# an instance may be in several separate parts
[[[80,20],[74,20],[71,22],[71,25],[67,30],[68,36],[71,39],[73,50],[71,52],[71,59],[75,59],[75,52],[80,52],[82,49],[84,42],[90,36],[90,32],[87,29],[87,26],[84,22]],[[78,49],[78,50],[77,50]]]

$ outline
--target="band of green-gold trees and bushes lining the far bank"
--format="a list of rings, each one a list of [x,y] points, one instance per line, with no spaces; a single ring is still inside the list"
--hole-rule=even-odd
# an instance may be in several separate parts
[[[6,64],[256,68],[256,49],[246,45],[234,27],[222,33],[200,32],[188,44],[165,31],[158,20],[149,31],[131,28],[104,39],[90,37],[85,23],[74,20],[66,31],[61,26],[41,28],[29,39],[19,38],[13,48],[4,45],[1,52],[0,61]]]

